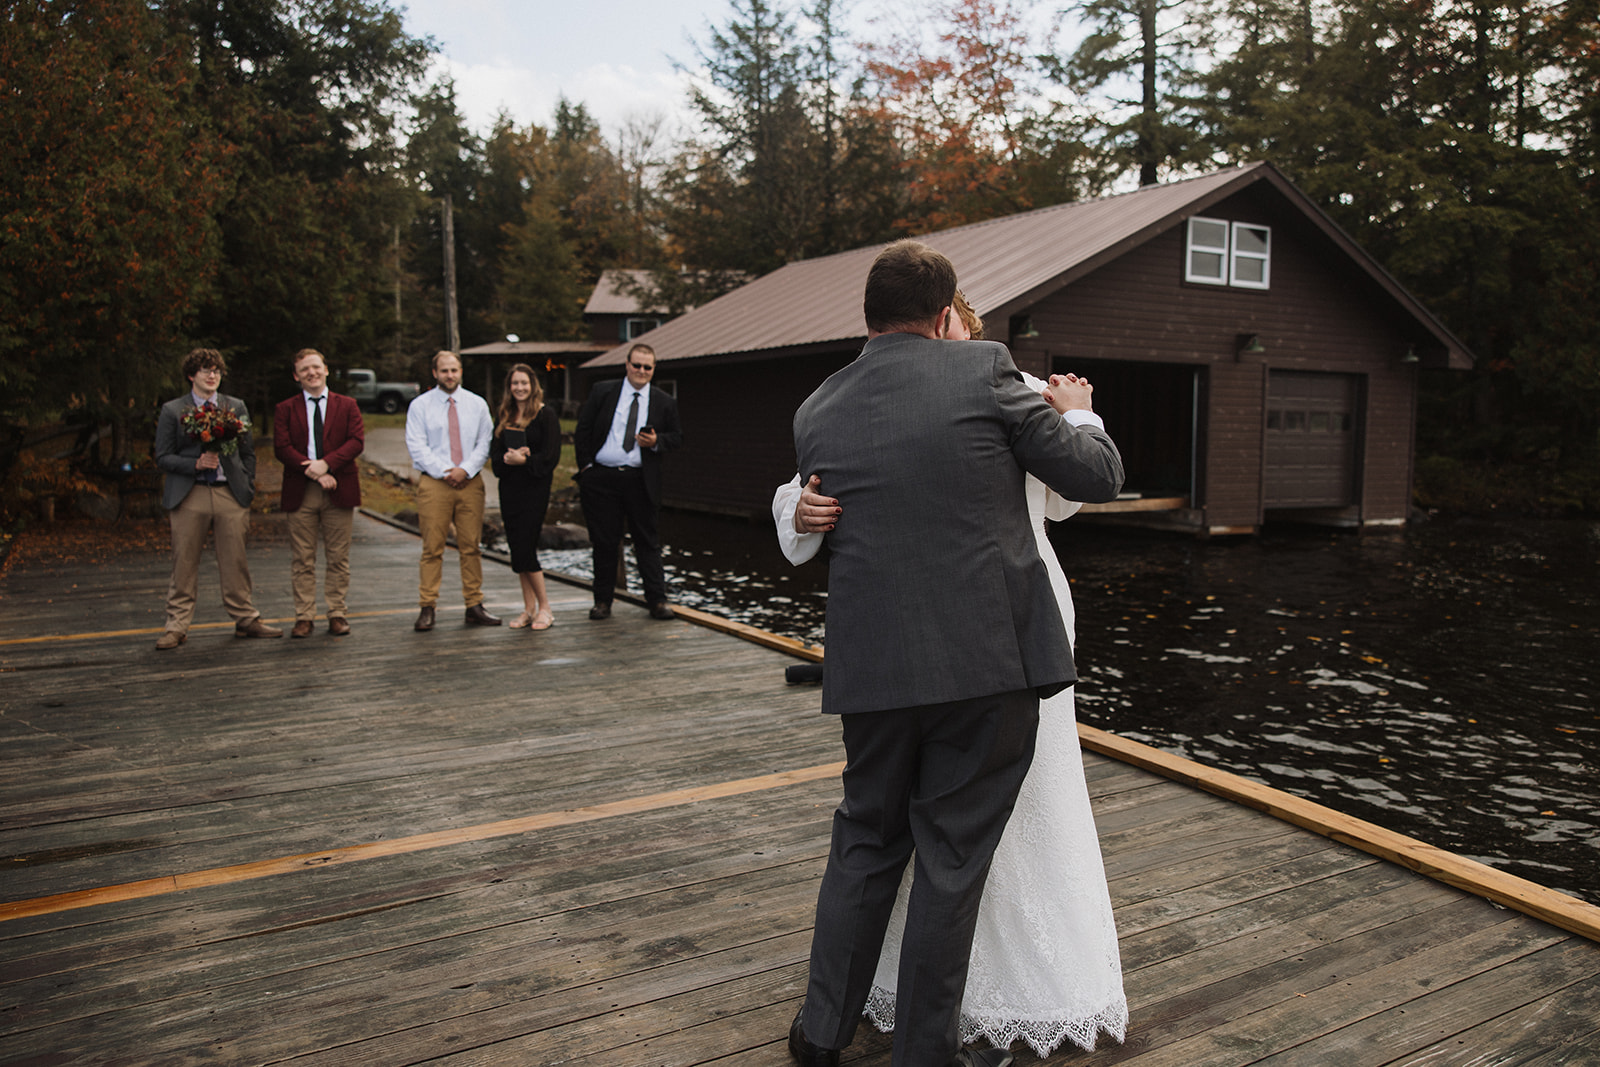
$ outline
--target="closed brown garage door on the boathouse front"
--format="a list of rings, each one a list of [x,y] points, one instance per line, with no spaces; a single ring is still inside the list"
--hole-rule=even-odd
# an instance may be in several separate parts
[[[1355,504],[1357,379],[1267,374],[1266,507]]]

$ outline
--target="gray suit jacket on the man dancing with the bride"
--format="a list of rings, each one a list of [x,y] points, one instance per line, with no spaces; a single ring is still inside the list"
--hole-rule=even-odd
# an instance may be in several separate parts
[[[802,477],[845,509],[827,534],[824,712],[1077,680],[1024,472],[1070,501],[1115,499],[1106,434],[1064,422],[1003,344],[902,333],[867,341],[794,430]]]

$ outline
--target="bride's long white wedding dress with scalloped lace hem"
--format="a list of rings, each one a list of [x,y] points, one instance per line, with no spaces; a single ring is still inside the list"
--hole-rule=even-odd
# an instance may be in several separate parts
[[[1072,590],[1045,537],[1045,518],[1066,518],[1077,507],[1029,477],[1029,518],[1074,645]],[[962,1001],[962,1040],[981,1037],[1005,1048],[1021,1038],[1043,1057],[1064,1040],[1093,1049],[1096,1038],[1109,1033],[1120,1043],[1128,1030],[1128,1001],[1083,779],[1072,689],[1043,701],[1038,710],[1034,763],[995,851],[978,912]],[[907,865],[867,1000],[866,1016],[883,1032],[894,1029],[894,984],[910,880]]]

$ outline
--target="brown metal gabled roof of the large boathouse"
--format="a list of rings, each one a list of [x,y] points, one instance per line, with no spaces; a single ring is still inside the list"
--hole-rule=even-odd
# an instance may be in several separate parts
[[[1256,182],[1269,182],[1282,192],[1405,312],[1419,320],[1445,349],[1450,366],[1470,366],[1466,346],[1269,163],[987,219],[918,240],[955,262],[962,291],[981,317],[1000,320]],[[787,264],[643,338],[610,349],[584,366],[621,365],[627,349],[640,339],[656,350],[658,363],[838,347],[864,339],[861,291],[867,269],[882,248],[882,243],[870,245]]]

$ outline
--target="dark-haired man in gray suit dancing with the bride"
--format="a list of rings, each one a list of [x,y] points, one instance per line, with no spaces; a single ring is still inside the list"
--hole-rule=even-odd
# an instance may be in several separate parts
[[[827,534],[822,710],[842,717],[845,800],[816,905],[811,977],[789,1030],[803,1065],[838,1062],[872,987],[915,851],[894,1013],[896,1067],[1000,1067],[963,1049],[958,1013],[978,902],[1034,758],[1038,701],[1077,681],[1034,547],[1024,474],[1110,501],[1122,458],[1062,419],[1088,386],[1042,398],[1003,344],[938,341],[955,269],[917,242],[867,274],[867,344],[795,414],[802,482],[838,501]]]

